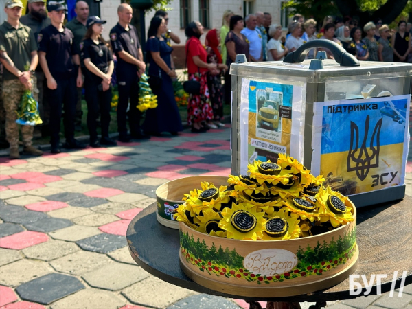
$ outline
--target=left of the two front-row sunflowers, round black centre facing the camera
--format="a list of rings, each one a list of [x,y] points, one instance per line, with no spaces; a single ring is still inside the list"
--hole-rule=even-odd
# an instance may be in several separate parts
[[[263,237],[264,212],[256,207],[249,209],[244,203],[233,203],[231,208],[223,209],[221,215],[219,227],[227,231],[227,238],[257,240]]]

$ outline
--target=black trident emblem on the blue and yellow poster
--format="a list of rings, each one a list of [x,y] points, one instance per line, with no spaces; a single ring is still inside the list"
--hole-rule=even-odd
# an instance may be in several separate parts
[[[366,178],[371,168],[379,167],[380,128],[382,128],[382,118],[380,118],[376,123],[374,133],[372,133],[370,146],[369,148],[367,148],[366,141],[367,135],[369,134],[369,115],[367,115],[365,122],[365,135],[363,137],[362,146],[359,149],[357,157],[355,157],[356,152],[358,152],[359,129],[354,122],[350,122],[350,150],[347,154],[346,161],[347,172],[356,171],[356,176],[358,176],[358,179],[361,179],[361,181],[363,181]],[[374,146],[375,136],[376,147]],[[352,166],[352,162],[355,163],[354,166]]]

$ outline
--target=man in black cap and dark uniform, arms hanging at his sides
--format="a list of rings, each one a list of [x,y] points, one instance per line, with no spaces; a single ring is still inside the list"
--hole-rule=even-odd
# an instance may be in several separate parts
[[[65,5],[49,1],[47,5],[52,25],[38,34],[38,56],[47,79],[47,96],[50,102],[50,133],[52,153],[60,150],[60,119],[62,105],[65,109],[67,149],[81,149],[84,145],[74,138],[74,116],[76,115],[76,85],[82,87],[82,72],[78,48],[73,44],[73,33],[63,27]]]

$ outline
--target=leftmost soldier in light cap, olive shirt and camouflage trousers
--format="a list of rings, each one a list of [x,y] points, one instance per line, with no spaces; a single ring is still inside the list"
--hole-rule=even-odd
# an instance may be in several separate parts
[[[0,61],[3,64],[3,104],[5,109],[5,135],[10,144],[10,159],[19,159],[19,126],[17,109],[21,96],[36,83],[34,69],[38,63],[37,45],[29,27],[20,23],[21,0],[5,1],[7,21],[0,25]],[[33,80],[33,83],[32,83]],[[36,93],[33,93],[37,100]],[[21,126],[23,151],[29,155],[43,155],[32,146],[33,126]]]

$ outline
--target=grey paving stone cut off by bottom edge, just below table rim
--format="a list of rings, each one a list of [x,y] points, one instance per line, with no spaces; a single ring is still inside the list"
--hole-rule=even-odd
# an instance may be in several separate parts
[[[168,306],[166,309],[216,309],[218,305],[221,309],[239,309],[239,306],[233,303],[233,301],[226,299],[225,297],[198,294],[186,297],[177,301],[172,306]]]

